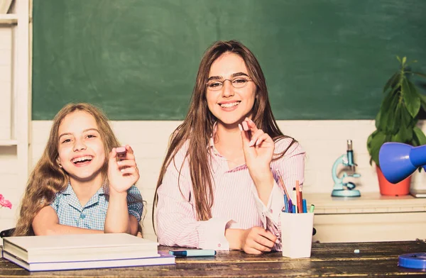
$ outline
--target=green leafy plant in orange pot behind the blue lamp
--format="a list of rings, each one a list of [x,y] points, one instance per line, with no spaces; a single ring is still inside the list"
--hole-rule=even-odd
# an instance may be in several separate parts
[[[384,97],[376,116],[376,130],[367,140],[370,164],[376,163],[381,194],[393,196],[410,192],[410,177],[398,184],[391,184],[383,177],[378,162],[381,145],[386,142],[426,145],[425,134],[416,126],[420,107],[426,111],[426,96],[420,94],[410,81],[413,74],[423,78],[426,78],[426,74],[412,72],[406,57],[401,59],[397,56],[397,59],[400,62],[400,70],[395,72],[383,87]]]

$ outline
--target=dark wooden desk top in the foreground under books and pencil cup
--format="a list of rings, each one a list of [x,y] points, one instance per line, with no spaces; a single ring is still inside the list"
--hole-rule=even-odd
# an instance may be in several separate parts
[[[160,250],[170,248],[160,247]],[[354,250],[359,249],[359,254]],[[417,241],[383,243],[313,243],[308,259],[289,259],[280,252],[261,256],[244,252],[219,252],[216,257],[177,259],[176,265],[82,269],[60,272],[28,272],[0,259],[0,277],[356,277],[408,276],[426,274],[398,267],[398,255],[426,252],[426,243]]]

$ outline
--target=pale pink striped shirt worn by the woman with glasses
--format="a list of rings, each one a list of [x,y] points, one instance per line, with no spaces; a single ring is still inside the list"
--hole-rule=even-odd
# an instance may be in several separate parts
[[[275,142],[275,153],[288,148],[291,140],[284,138]],[[253,226],[266,228],[280,238],[279,216],[284,201],[283,189],[276,182],[276,170],[279,169],[288,191],[295,186],[296,180],[303,184],[305,152],[300,144],[293,144],[283,157],[271,162],[275,182],[265,206],[258,197],[248,167],[241,165],[229,169],[226,158],[214,148],[212,139],[210,141],[214,188],[212,218],[197,221],[190,168],[187,160],[184,161],[188,146],[185,143],[168,166],[163,183],[158,188],[155,221],[160,245],[229,250],[224,235],[226,228],[248,229]],[[274,250],[280,250],[280,244],[275,244]]]

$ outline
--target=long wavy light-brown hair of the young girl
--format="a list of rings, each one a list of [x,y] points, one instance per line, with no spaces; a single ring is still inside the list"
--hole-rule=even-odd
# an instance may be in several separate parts
[[[105,154],[112,148],[119,147],[117,140],[104,113],[92,104],[67,104],[53,118],[48,144],[43,155],[35,165],[28,179],[26,191],[21,201],[21,212],[16,223],[13,235],[33,235],[32,223],[35,215],[41,208],[53,202],[58,192],[63,191],[68,185],[67,173],[58,164],[59,126],[65,116],[75,111],[84,111],[91,114],[97,123],[97,128],[104,143]],[[106,155],[102,175],[107,179],[108,155]]]

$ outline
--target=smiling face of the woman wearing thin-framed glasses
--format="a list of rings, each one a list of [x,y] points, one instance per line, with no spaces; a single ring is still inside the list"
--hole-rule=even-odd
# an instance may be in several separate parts
[[[223,84],[222,88],[216,90],[214,81],[218,81],[219,87]],[[236,87],[244,83],[244,87],[235,88],[233,83]],[[218,124],[237,128],[249,116],[256,96],[256,84],[251,81],[243,58],[231,52],[221,55],[210,67],[208,84],[212,85],[206,91],[209,111]]]

